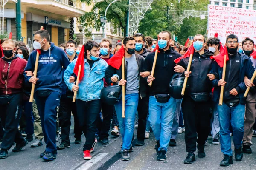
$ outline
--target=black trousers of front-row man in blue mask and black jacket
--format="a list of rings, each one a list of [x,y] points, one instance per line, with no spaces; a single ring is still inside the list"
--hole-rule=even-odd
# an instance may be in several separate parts
[[[210,132],[212,102],[195,102],[192,98],[183,98],[181,108],[185,125],[186,152],[196,150],[196,142],[205,144]]]

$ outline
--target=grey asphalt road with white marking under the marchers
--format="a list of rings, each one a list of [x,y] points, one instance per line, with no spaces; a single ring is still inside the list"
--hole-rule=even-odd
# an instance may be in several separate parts
[[[72,126],[73,127],[73,126]],[[136,133],[136,130],[135,130]],[[129,161],[122,161],[119,150],[122,144],[121,137],[110,136],[110,144],[96,144],[92,153],[93,159],[83,160],[82,146],[85,142],[82,137],[81,144],[74,144],[73,130],[70,130],[71,147],[58,150],[57,159],[52,162],[44,162],[39,154],[44,151],[45,144],[37,148],[31,148],[29,144],[18,153],[9,150],[9,157],[0,160],[0,170],[256,170],[256,146],[252,146],[252,154],[244,154],[241,162],[236,162],[229,167],[220,167],[223,159],[220,145],[213,145],[209,136],[205,148],[206,157],[198,158],[192,164],[183,164],[186,158],[184,133],[177,136],[177,146],[169,147],[168,158],[165,161],[157,161],[154,150],[155,139],[153,133],[145,139],[145,145],[134,147],[130,153]],[[134,134],[136,138],[136,134]],[[134,141],[136,142],[136,141]],[[252,142],[256,142],[253,138]],[[58,144],[57,144],[58,145]]]

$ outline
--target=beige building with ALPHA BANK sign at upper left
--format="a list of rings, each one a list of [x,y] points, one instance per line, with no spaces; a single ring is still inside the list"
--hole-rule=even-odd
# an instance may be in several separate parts
[[[74,0],[75,4],[75,0]],[[15,2],[8,1],[4,6],[4,32],[12,32],[16,40]],[[69,38],[70,17],[80,17],[84,10],[69,6],[68,0],[21,0],[22,37],[23,42],[30,46],[34,33],[44,26],[55,45],[67,42]]]

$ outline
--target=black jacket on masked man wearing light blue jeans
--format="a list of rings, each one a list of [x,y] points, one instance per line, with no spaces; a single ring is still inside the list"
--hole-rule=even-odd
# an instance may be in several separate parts
[[[144,71],[150,71],[153,67],[155,51],[148,54],[145,58]],[[174,50],[159,50],[157,54],[157,62],[154,70],[154,81],[152,86],[149,88],[150,96],[156,94],[168,94],[169,84],[174,72],[175,62],[174,60],[181,57],[179,53]]]

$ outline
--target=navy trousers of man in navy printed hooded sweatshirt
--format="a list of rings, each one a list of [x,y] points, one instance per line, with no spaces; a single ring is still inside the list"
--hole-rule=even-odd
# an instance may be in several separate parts
[[[47,97],[39,97],[35,93],[35,102],[41,118],[44,142],[47,152],[55,152],[56,148],[56,116],[61,93],[52,91]]]

